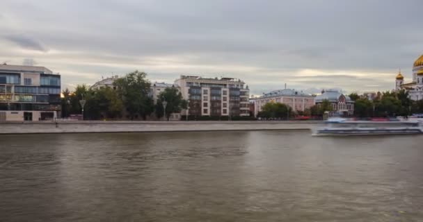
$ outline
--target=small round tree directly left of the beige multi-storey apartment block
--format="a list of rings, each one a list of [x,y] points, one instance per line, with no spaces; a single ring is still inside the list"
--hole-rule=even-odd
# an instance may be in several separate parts
[[[169,120],[170,114],[181,112],[186,109],[187,101],[183,99],[181,92],[175,87],[167,87],[159,94],[159,101],[156,105],[156,115],[158,118],[163,116],[163,101],[166,101],[166,118]],[[160,108],[161,105],[161,108]],[[161,111],[161,112],[160,112]]]

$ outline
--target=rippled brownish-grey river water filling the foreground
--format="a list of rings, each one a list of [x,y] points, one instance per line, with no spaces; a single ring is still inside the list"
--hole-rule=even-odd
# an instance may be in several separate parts
[[[0,221],[423,221],[423,137],[0,136]]]

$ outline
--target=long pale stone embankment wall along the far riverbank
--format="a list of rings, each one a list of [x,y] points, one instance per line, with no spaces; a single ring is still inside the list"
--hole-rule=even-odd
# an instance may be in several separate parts
[[[0,134],[310,130],[320,121],[38,121],[1,122]]]

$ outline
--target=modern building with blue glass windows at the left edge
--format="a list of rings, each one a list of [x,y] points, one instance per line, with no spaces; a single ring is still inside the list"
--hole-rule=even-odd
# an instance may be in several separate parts
[[[0,65],[0,121],[56,119],[61,76],[45,67]]]

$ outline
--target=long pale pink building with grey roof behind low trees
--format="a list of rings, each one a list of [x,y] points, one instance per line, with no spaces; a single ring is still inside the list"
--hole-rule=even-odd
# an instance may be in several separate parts
[[[295,89],[274,90],[254,99],[254,115],[257,117],[258,112],[262,111],[263,105],[271,102],[284,103],[285,105],[289,105],[293,111],[297,112],[312,107],[314,105],[314,96],[298,92]]]

